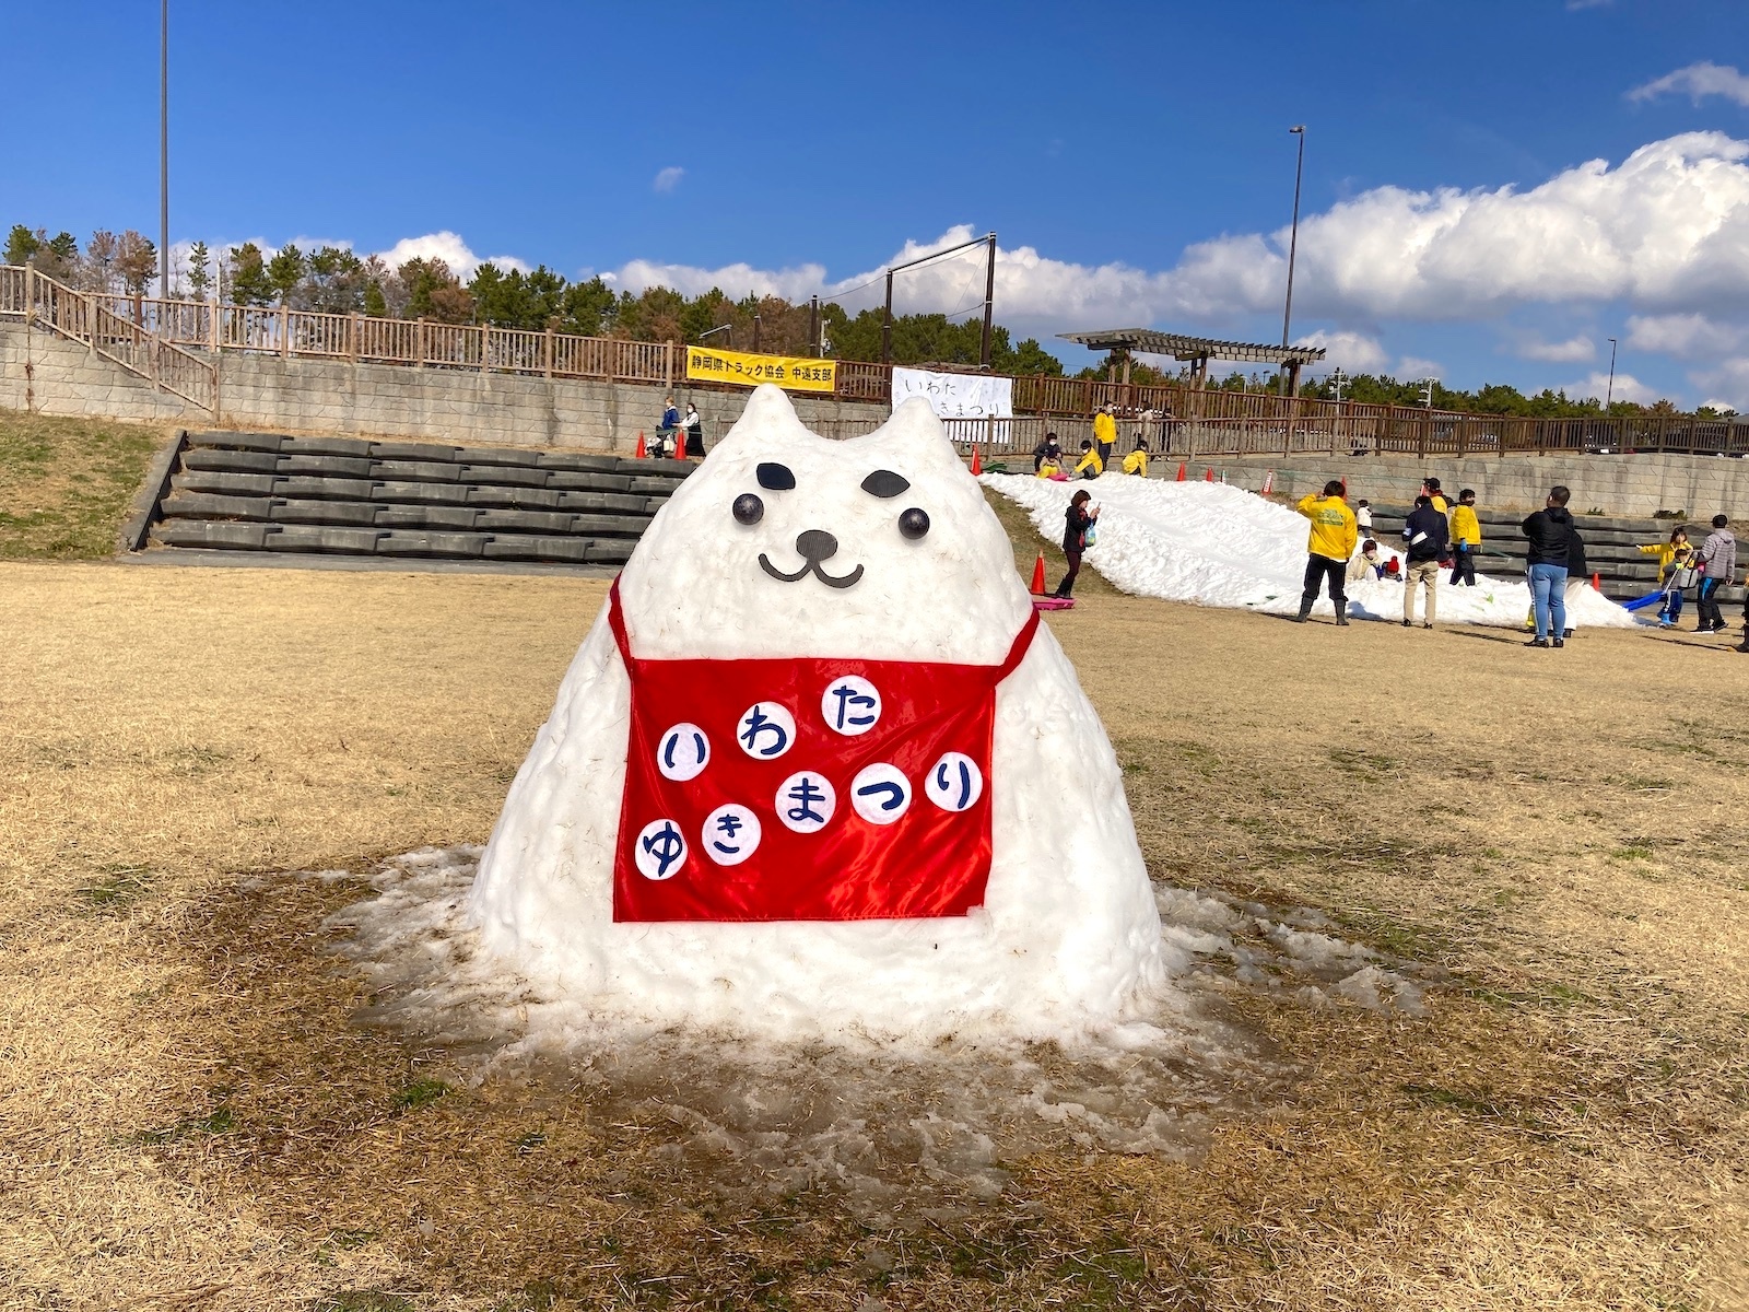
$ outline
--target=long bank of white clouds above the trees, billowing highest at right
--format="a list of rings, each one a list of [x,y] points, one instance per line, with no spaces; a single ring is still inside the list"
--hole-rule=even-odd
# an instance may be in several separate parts
[[[890,262],[972,236],[965,224],[908,241]],[[1198,241],[1167,271],[1079,264],[1032,247],[997,259],[997,313],[1028,331],[1140,324],[1237,324],[1275,311],[1286,229]],[[983,252],[897,276],[906,311],[974,308]],[[633,261],[617,282],[733,296],[820,294],[850,310],[880,303],[883,266],[827,280],[819,264],[761,269]],[[873,283],[861,287],[861,283]],[[1300,224],[1294,304],[1338,325],[1494,318],[1518,306],[1625,301],[1639,313],[1698,313],[1749,299],[1749,142],[1686,133],[1611,166],[1593,159],[1516,191],[1376,187]]]

